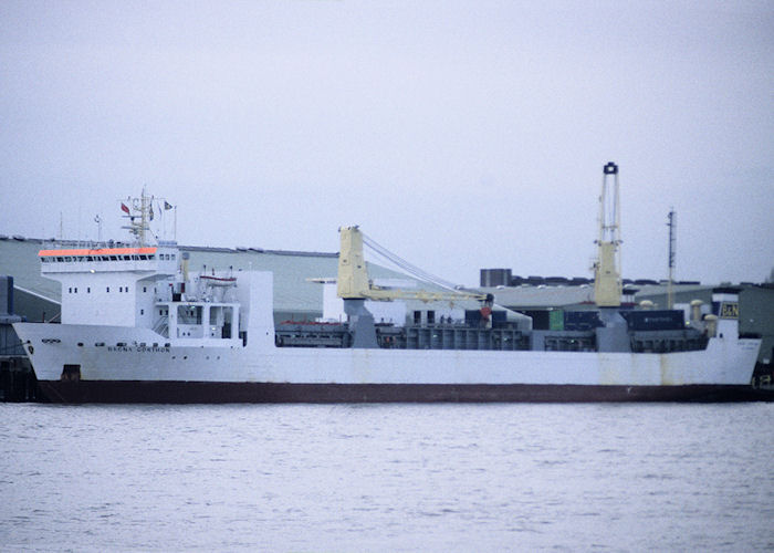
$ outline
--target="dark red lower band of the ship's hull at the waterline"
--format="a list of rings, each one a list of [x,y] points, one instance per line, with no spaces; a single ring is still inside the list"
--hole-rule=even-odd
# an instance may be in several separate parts
[[[556,384],[290,384],[140,380],[42,380],[67,404],[262,403],[595,403],[747,401],[767,396],[749,385],[592,386]]]

